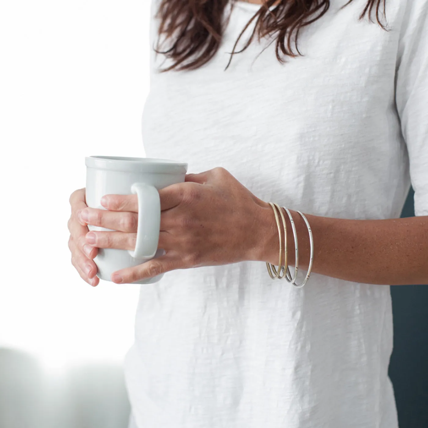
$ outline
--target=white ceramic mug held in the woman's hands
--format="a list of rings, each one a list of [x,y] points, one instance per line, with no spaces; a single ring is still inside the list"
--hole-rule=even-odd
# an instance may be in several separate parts
[[[134,250],[99,248],[94,258],[97,276],[111,281],[116,270],[140,265],[165,252],[158,249],[160,230],[160,199],[158,190],[184,182],[187,163],[152,158],[124,158],[120,156],[89,156],[86,164],[86,205],[105,210],[101,205],[104,195],[137,193],[138,230]],[[104,227],[88,225],[89,230],[109,231]],[[163,273],[133,284],[152,284]]]

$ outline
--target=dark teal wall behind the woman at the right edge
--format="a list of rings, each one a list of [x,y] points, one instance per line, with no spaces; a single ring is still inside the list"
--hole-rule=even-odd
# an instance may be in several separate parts
[[[414,215],[410,190],[401,217]],[[391,296],[394,349],[389,377],[399,426],[428,428],[428,285],[393,285]]]

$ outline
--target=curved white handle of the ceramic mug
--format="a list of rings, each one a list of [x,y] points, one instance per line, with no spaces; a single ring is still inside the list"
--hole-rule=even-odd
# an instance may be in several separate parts
[[[131,192],[137,193],[138,226],[135,250],[128,250],[135,259],[153,259],[158,250],[160,230],[160,197],[156,187],[134,183]]]

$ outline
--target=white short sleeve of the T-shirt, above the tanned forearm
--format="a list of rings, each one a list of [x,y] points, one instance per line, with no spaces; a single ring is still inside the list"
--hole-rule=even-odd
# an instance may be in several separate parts
[[[428,0],[406,3],[396,70],[395,101],[407,145],[415,215],[428,215]]]

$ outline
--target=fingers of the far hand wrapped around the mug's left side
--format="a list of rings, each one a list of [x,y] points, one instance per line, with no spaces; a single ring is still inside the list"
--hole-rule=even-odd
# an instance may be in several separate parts
[[[85,187],[74,190],[70,195],[71,216],[68,220],[70,239],[68,248],[71,251],[71,264],[79,275],[90,285],[96,286],[100,279],[97,274],[97,266],[92,260],[98,253],[97,247],[91,247],[85,243],[85,235],[89,232],[88,226],[83,225],[77,218],[77,211],[86,208]],[[87,251],[87,253],[86,253]]]

